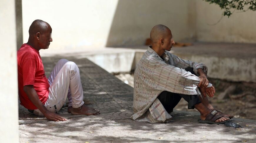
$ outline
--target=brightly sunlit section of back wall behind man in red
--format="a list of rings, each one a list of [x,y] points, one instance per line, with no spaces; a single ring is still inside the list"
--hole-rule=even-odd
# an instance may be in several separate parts
[[[36,19],[52,27],[47,51],[104,47],[118,0],[22,0],[23,41]],[[40,51],[41,52],[41,51]]]

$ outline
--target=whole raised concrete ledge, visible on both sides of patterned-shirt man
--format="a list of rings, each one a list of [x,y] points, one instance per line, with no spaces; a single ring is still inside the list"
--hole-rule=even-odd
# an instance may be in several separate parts
[[[42,56],[76,56],[88,58],[109,73],[128,73],[135,69],[148,46],[96,48],[75,53],[47,53]],[[229,81],[256,82],[256,44],[194,43],[193,46],[173,47],[170,51],[185,60],[205,63],[208,76]],[[65,52],[65,51],[64,51]]]

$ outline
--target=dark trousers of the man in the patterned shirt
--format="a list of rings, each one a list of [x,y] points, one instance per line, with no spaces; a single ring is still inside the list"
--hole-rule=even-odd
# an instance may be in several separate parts
[[[186,68],[185,70],[191,72],[192,74],[195,74],[193,68]],[[201,103],[198,95],[178,94],[168,91],[161,92],[157,98],[160,100],[168,113],[173,111],[173,108],[179,103],[181,98],[185,99],[188,102],[188,109],[194,109],[196,104]]]

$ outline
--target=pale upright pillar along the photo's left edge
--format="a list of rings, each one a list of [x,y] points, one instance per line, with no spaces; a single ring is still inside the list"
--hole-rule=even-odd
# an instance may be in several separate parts
[[[19,142],[14,0],[0,1],[0,142]],[[4,22],[3,22],[4,21]]]

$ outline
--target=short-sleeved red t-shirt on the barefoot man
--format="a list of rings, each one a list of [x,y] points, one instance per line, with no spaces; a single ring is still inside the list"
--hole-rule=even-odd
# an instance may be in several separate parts
[[[28,44],[21,45],[17,51],[18,60],[18,85],[19,99],[21,105],[25,108],[34,110],[36,106],[29,100],[24,92],[25,85],[34,85],[40,101],[44,104],[49,95],[49,82],[44,74],[44,65],[42,63],[39,51]]]

